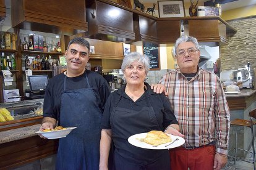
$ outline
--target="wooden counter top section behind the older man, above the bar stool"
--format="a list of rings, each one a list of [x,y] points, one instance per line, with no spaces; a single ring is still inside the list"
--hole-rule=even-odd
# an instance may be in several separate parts
[[[241,110],[256,102],[256,90],[242,89],[238,94],[226,94],[229,110]]]

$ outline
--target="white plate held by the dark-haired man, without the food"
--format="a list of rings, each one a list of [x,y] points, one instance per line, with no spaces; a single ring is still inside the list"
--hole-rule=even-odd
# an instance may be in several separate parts
[[[42,136],[46,137],[47,139],[59,139],[62,137],[66,137],[73,129],[77,127],[66,127],[66,129],[58,130],[58,131],[38,131],[35,132],[36,134],[41,134]]]

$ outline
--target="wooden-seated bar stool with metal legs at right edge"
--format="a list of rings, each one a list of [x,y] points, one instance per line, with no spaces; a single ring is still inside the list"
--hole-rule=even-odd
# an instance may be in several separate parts
[[[252,135],[252,152],[249,150],[245,150],[242,148],[237,148],[237,131],[236,131],[236,146],[235,146],[235,156],[231,156],[233,157],[234,160],[234,164],[236,164],[236,160],[237,160],[237,150],[242,150],[245,152],[250,152],[252,153],[252,157],[254,158],[254,170],[255,170],[255,146],[254,146],[254,125],[256,124],[256,121],[253,121],[252,118],[256,118],[256,108],[252,111],[249,112],[249,117],[250,120],[245,120],[245,119],[234,119],[233,121],[231,121],[231,126],[243,126],[243,127],[249,127],[251,130],[251,135]],[[242,160],[242,161],[246,161],[246,160]],[[249,162],[249,161],[246,161]],[[251,163],[251,162],[249,162]]]

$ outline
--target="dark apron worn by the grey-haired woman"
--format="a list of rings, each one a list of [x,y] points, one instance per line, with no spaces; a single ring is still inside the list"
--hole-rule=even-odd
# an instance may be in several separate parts
[[[124,94],[125,92],[122,92],[120,95],[110,116],[112,137],[116,147],[114,152],[115,168],[117,170],[155,169],[149,168],[151,166],[169,169],[168,150],[148,150],[129,144],[127,139],[130,136],[153,130],[163,131],[163,126],[156,119],[147,91],[143,94],[146,97],[147,106],[142,107],[140,111],[118,107]]]

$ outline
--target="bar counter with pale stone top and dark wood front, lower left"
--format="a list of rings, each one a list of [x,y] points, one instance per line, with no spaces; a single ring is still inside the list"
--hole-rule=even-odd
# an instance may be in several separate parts
[[[41,124],[0,132],[0,169],[32,163],[40,167],[45,158],[57,153],[58,139],[41,139],[35,132]],[[43,161],[40,161],[42,160]]]

